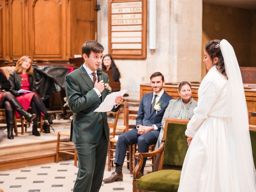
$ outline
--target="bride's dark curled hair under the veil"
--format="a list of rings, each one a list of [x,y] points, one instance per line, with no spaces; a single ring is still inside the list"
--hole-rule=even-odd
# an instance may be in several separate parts
[[[210,58],[212,60],[212,64],[216,65],[217,70],[223,74],[224,76],[226,75],[226,70],[225,70],[225,64],[224,64],[224,59],[220,50],[220,40],[215,39],[206,44],[204,47],[206,52],[210,55]],[[217,57],[218,61],[217,63],[213,63],[213,58]]]

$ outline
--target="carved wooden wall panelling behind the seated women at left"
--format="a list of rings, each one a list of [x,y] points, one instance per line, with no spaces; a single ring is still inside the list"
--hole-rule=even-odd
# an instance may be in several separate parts
[[[96,40],[97,0],[0,0],[0,63],[66,62]]]

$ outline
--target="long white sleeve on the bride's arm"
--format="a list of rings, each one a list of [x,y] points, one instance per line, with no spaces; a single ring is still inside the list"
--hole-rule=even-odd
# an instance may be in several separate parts
[[[194,115],[188,122],[186,136],[193,137],[200,124],[208,117],[208,112],[216,101],[220,87],[213,80],[206,80],[198,98],[197,107],[194,108]]]

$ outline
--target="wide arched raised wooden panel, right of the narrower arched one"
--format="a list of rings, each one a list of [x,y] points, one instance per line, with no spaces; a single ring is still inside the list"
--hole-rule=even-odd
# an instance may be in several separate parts
[[[64,1],[65,2],[65,1]],[[32,57],[63,59],[63,5],[60,0],[33,0],[31,7]]]

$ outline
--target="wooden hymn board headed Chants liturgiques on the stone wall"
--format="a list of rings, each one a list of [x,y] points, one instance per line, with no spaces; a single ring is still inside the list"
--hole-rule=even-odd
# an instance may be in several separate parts
[[[146,58],[147,0],[108,0],[108,52],[113,58]]]

